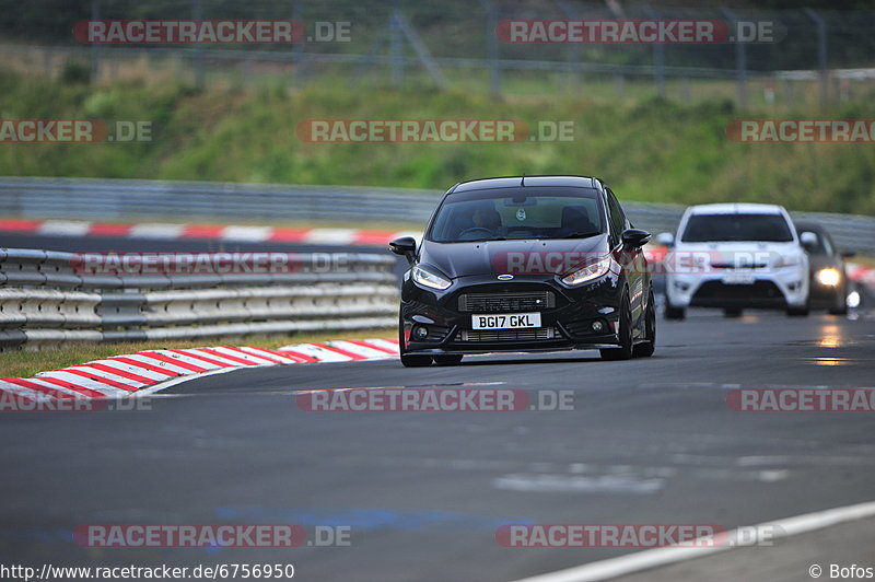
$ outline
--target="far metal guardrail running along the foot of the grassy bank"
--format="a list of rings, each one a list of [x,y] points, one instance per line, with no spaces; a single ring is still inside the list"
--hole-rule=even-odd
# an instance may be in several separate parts
[[[402,188],[89,178],[0,178],[0,214],[24,219],[424,222],[442,193]],[[623,202],[632,222],[674,232],[684,206]],[[875,217],[793,212],[840,248],[875,255]]]

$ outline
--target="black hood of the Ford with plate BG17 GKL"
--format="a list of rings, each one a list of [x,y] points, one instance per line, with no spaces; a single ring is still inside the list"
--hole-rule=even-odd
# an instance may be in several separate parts
[[[423,241],[419,263],[432,266],[452,279],[509,272],[537,273],[538,259],[563,272],[564,266],[579,258],[608,252],[607,234],[587,238],[525,238],[471,243]],[[558,253],[559,255],[553,255]],[[549,255],[549,257],[548,257]],[[549,260],[547,260],[549,258]],[[514,271],[515,266],[522,270]],[[534,270],[528,270],[534,266]],[[546,272],[547,267],[541,272]]]

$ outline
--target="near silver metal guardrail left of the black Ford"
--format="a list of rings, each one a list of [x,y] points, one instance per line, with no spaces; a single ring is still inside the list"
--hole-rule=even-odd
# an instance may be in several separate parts
[[[287,254],[265,253],[265,265],[287,268],[184,272],[221,255],[148,254],[142,257],[160,260],[113,269],[104,268],[106,255],[2,248],[0,351],[73,341],[363,329],[396,322],[398,292],[389,256],[302,254],[294,255],[289,269]]]

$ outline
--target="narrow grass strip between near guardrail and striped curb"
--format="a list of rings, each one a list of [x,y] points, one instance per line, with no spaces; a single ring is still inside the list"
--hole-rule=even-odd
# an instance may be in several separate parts
[[[277,338],[248,338],[235,341],[199,340],[199,341],[141,341],[131,344],[93,344],[67,346],[45,351],[10,351],[0,357],[0,377],[30,377],[38,372],[58,370],[93,360],[133,353],[143,350],[186,349],[205,346],[255,346],[258,348],[279,348],[290,344],[307,344],[331,339],[385,338],[396,339],[395,328],[363,329],[359,331],[325,331],[319,334],[300,334]]]

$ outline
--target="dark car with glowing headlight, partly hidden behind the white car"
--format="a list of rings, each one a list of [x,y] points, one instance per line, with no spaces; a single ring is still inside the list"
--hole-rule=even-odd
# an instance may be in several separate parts
[[[812,271],[810,302],[832,315],[848,313],[848,272],[844,259],[853,253],[839,253],[827,230],[817,222],[794,221]]]

